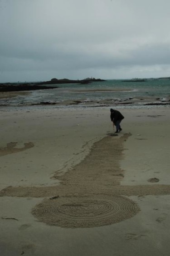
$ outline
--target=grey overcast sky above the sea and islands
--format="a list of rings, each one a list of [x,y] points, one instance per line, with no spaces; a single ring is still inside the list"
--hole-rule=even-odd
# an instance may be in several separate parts
[[[170,76],[170,0],[0,0],[0,82]]]

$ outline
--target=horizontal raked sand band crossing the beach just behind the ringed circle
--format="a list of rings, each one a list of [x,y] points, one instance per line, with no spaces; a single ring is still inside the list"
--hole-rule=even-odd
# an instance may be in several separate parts
[[[0,191],[0,197],[69,197],[91,194],[107,194],[122,196],[148,196],[170,195],[170,185],[137,185],[137,186],[113,186],[111,188],[84,187],[81,190],[73,186],[51,187],[6,187]]]

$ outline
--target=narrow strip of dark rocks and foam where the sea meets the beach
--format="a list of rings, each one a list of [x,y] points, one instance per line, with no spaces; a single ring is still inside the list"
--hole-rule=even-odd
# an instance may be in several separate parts
[[[3,102],[0,103],[0,109],[2,108],[19,108],[19,107],[56,107],[56,108],[106,108],[113,106],[116,108],[150,108],[155,106],[170,106],[170,99],[155,99],[155,98],[130,98],[130,99],[98,99],[98,100],[87,100],[87,99],[72,99],[72,100],[63,100],[63,101],[40,101],[37,103],[25,103],[24,96],[31,95],[30,92],[20,92],[20,93],[5,93],[0,94],[0,99]],[[18,98],[20,97],[20,98]],[[10,102],[10,99],[13,102]]]

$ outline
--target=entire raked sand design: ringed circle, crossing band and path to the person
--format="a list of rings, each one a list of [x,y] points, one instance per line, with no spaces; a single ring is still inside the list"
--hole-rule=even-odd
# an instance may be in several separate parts
[[[94,143],[82,162],[62,176],[57,173],[53,176],[60,180],[59,186],[10,186],[3,189],[0,196],[49,197],[32,210],[39,221],[49,225],[104,226],[133,217],[140,209],[125,196],[167,195],[170,185],[120,185],[124,177],[120,160],[124,142],[130,135],[107,136]]]

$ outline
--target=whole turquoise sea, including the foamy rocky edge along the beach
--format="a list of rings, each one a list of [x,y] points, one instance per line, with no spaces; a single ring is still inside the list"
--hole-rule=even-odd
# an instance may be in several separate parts
[[[170,79],[108,79],[90,84],[49,84],[56,89],[0,99],[0,107],[152,108],[170,107]]]

